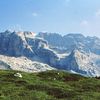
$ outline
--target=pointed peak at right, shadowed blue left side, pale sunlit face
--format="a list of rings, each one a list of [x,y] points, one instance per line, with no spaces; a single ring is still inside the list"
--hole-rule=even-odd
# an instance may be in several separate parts
[[[60,68],[85,76],[99,76],[100,67],[94,61],[96,57],[97,55],[93,56],[93,54],[91,55],[78,50],[73,50],[68,56],[60,61],[60,66],[62,66]],[[100,63],[100,56],[97,57],[97,59]]]

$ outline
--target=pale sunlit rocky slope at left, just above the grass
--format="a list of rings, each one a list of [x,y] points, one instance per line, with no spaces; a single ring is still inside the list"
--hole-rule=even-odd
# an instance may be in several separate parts
[[[26,57],[8,57],[0,55],[0,69],[12,69],[25,72],[40,72],[54,70],[47,64],[31,61]]]

